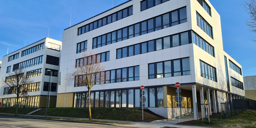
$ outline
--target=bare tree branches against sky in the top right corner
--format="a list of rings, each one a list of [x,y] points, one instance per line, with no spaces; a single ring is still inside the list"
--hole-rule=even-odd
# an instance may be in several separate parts
[[[249,14],[246,24],[249,26],[251,32],[256,32],[256,0],[244,0],[244,8]]]

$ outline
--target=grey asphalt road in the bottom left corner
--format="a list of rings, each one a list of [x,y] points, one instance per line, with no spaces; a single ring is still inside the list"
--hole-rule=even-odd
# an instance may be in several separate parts
[[[0,128],[131,128],[131,127],[0,116]]]

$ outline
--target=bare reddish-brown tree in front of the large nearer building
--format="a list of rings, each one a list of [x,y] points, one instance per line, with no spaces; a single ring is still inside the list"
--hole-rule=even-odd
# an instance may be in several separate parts
[[[94,54],[83,53],[83,59],[80,64],[76,64],[76,68],[72,74],[72,79],[78,86],[85,86],[88,89],[88,106],[89,120],[92,120],[91,112],[91,89],[96,84],[104,84],[106,73],[104,65],[100,64],[101,58]]]

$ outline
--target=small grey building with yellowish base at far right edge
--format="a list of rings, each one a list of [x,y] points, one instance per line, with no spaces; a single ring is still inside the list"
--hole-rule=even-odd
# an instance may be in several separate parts
[[[256,76],[244,76],[245,98],[256,100]]]

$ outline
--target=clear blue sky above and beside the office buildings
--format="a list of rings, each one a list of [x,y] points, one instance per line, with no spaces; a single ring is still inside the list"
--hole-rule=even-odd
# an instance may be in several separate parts
[[[113,0],[113,7],[127,0]],[[244,0],[210,0],[221,17],[224,51],[256,75],[256,33],[246,26]],[[62,40],[65,28],[112,8],[112,0],[0,0],[0,60],[48,36]],[[26,42],[26,43],[25,43]]]

